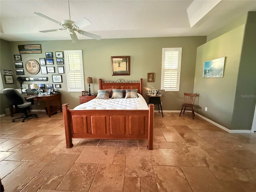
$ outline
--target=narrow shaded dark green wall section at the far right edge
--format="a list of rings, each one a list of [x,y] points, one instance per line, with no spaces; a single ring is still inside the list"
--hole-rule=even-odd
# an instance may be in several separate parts
[[[235,96],[231,128],[250,129],[256,103],[256,12],[248,13]]]

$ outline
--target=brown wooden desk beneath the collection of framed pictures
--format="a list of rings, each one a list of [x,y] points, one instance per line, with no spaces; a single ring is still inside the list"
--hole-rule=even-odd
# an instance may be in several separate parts
[[[36,101],[44,101],[46,102],[47,114],[51,117],[52,114],[56,113],[58,110],[62,112],[62,102],[61,102],[61,94],[52,94],[52,95],[26,95],[24,98],[28,97],[36,97],[34,98],[34,102]],[[52,108],[50,107],[52,106]],[[13,116],[13,108],[10,106],[10,114]]]

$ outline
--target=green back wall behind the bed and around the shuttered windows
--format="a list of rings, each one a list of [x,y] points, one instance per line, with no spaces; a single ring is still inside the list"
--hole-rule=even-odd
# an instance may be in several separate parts
[[[79,39],[79,36],[78,36]],[[22,54],[22,62],[28,59],[45,58],[45,52],[53,52],[55,72],[58,74],[55,52],[64,50],[82,50],[84,63],[84,78],[93,78],[91,92],[97,92],[99,88],[98,79],[117,80],[139,80],[143,78],[144,92],[146,89],[160,89],[162,48],[182,47],[181,79],[179,92],[166,92],[166,97],[161,98],[163,110],[180,110],[183,102],[183,92],[193,92],[194,73],[196,64],[196,48],[206,42],[206,36],[191,37],[165,37],[165,38],[123,38],[102,40],[79,40],[73,44],[71,40],[58,41],[26,41],[9,42],[10,58],[14,66],[14,54],[18,54],[18,45],[41,44],[42,54]],[[2,41],[1,41],[2,43]],[[2,52],[1,52],[2,56]],[[130,76],[112,76],[111,56],[130,56]],[[65,65],[65,64],[64,64]],[[2,62],[1,62],[2,68]],[[33,76],[26,72],[25,75]],[[147,73],[156,73],[155,82],[147,82]],[[48,82],[37,82],[52,84],[52,74],[42,75],[41,72],[34,76],[47,76]],[[80,92],[68,92],[66,85],[66,72],[62,74],[61,88],[62,103],[69,103],[70,108],[79,104]],[[28,84],[28,82],[26,82]],[[88,85],[85,84],[86,90]],[[145,97],[146,98],[146,97]]]

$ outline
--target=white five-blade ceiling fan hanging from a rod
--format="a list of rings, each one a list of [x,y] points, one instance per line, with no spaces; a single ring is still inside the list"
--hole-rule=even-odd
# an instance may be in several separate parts
[[[101,36],[98,36],[98,35],[80,30],[80,28],[83,28],[85,26],[88,26],[88,25],[92,24],[88,19],[82,18],[81,20],[78,20],[77,22],[74,22],[74,21],[70,20],[69,0],[68,0],[69,20],[63,20],[62,22],[58,22],[58,21],[56,21],[56,20],[54,20],[54,19],[52,19],[48,16],[45,16],[45,15],[41,14],[41,13],[34,12],[34,14],[36,14],[38,16],[41,16],[43,18],[46,18],[46,19],[48,19],[52,22],[55,22],[55,23],[57,23],[57,24],[59,24],[63,27],[63,29],[52,29],[52,30],[44,30],[44,31],[39,31],[39,32],[47,33],[47,32],[67,30],[68,33],[70,34],[70,37],[71,37],[73,43],[75,43],[78,40],[75,31],[77,31],[81,35],[88,36],[88,37],[96,39],[96,40],[101,39]]]

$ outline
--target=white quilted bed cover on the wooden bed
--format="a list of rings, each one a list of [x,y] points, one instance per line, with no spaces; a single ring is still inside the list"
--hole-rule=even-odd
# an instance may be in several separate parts
[[[93,99],[80,104],[74,110],[148,110],[148,104],[141,94],[139,98]]]

